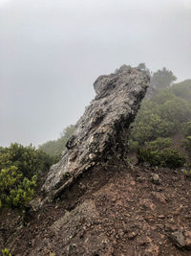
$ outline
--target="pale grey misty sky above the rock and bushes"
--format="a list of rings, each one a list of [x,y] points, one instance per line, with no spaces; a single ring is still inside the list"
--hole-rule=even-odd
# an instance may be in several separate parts
[[[191,78],[191,0],[0,0],[0,146],[56,139],[139,62]]]

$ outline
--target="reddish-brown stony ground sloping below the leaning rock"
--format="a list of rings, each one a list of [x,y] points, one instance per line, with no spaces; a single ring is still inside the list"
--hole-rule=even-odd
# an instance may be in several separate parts
[[[190,186],[180,170],[95,167],[25,218],[1,210],[0,247],[16,256],[191,255]]]

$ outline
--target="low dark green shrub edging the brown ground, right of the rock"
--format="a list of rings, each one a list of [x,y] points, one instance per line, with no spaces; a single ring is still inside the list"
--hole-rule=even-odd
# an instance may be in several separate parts
[[[182,167],[185,163],[184,154],[173,149],[153,151],[151,148],[138,149],[138,164],[147,162],[151,166],[161,166],[171,169]]]

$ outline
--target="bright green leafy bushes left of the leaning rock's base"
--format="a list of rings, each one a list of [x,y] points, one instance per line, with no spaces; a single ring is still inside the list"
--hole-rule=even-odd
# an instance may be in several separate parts
[[[37,176],[48,172],[54,162],[32,146],[14,143],[0,148],[0,207],[24,207],[33,197]]]

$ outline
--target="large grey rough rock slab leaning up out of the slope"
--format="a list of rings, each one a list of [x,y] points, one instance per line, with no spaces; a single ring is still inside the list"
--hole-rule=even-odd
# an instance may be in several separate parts
[[[146,73],[123,65],[94,83],[96,98],[76,124],[61,160],[53,165],[42,190],[55,197],[85,170],[123,159],[128,151],[128,128],[134,121],[150,79]]]

